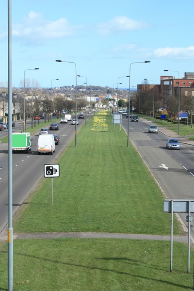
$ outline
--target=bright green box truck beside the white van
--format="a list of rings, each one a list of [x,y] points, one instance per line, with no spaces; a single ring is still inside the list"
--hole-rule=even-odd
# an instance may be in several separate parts
[[[15,132],[12,133],[12,152],[15,153],[17,150],[28,152],[31,150],[30,132]]]

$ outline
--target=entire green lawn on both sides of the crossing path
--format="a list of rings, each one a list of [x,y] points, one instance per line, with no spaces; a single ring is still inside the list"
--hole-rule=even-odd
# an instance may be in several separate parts
[[[118,232],[170,235],[163,194],[120,126],[79,128],[56,163],[60,177],[43,178],[14,218],[16,232]],[[174,220],[174,234],[181,234]],[[14,241],[14,291],[192,290],[187,245],[123,239]],[[0,290],[7,288],[7,242],[0,243]]]

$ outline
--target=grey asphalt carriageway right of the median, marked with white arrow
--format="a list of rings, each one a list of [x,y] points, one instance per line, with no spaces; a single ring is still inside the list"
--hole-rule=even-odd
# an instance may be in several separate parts
[[[122,119],[122,126],[127,131],[128,118]],[[181,144],[180,150],[169,150],[166,148],[168,138],[162,132],[149,133],[148,125],[141,119],[138,123],[129,122],[129,139],[161,186],[165,198],[192,200],[194,199],[194,146]],[[188,226],[185,220],[187,214],[179,213],[179,215],[185,226]],[[191,222],[191,234],[194,237],[193,228],[194,221]]]

